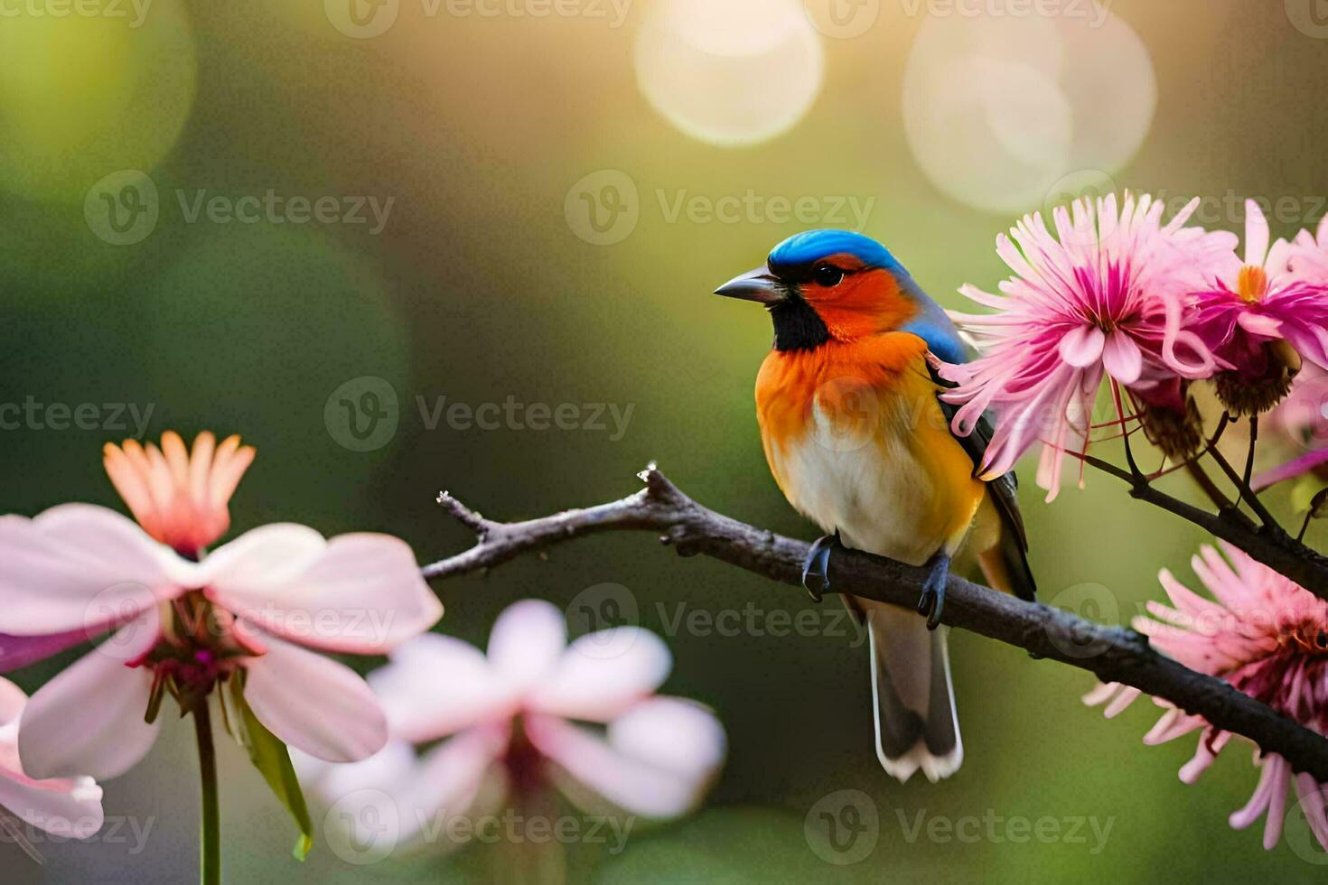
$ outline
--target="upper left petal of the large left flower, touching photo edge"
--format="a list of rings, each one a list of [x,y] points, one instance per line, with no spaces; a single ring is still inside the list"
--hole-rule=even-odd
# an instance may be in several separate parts
[[[64,504],[33,520],[5,519],[0,633],[85,630],[93,638],[178,592],[170,560],[179,557],[104,507]]]

